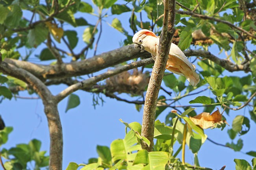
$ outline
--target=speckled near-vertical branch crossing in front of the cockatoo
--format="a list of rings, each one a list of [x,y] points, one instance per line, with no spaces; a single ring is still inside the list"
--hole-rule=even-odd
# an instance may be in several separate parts
[[[149,152],[152,151],[154,144],[154,124],[158,93],[161,87],[161,82],[163,80],[163,74],[171,47],[171,39],[175,33],[175,2],[176,0],[164,1],[163,29],[160,36],[156,61],[154,63],[145,98],[141,135],[150,141],[150,146],[148,146],[144,141],[141,145],[143,149],[146,149]]]

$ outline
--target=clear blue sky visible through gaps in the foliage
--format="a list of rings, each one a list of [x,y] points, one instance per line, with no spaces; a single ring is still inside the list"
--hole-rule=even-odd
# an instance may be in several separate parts
[[[88,2],[88,1],[86,1]],[[91,2],[89,2],[91,4]],[[118,1],[119,4],[125,3],[124,1]],[[108,12],[110,14],[110,11]],[[30,18],[30,13],[24,13],[25,17]],[[76,17],[84,17],[90,24],[96,24],[96,17],[86,13],[80,13]],[[119,31],[110,27],[107,22],[111,23],[113,18],[119,18],[122,21],[124,28],[129,27],[128,18],[130,13],[124,13],[119,16],[109,16],[102,23],[103,32],[98,44],[98,50],[96,54],[101,54],[102,52],[107,52],[120,47],[120,42],[125,39],[125,36]],[[146,17],[145,17],[146,19]],[[67,29],[72,29],[68,25],[65,26]],[[79,43],[76,50],[79,51],[86,44],[82,41],[82,34],[85,27],[76,28],[78,31]],[[132,31],[129,30],[130,35]],[[60,47],[64,47],[63,44]],[[37,50],[33,53],[39,54],[40,50],[43,49],[43,45],[39,46]],[[210,51],[219,57],[225,57],[225,55],[218,54],[219,50],[217,47],[211,47]],[[93,50],[91,50],[87,57],[93,56]],[[69,62],[71,58],[65,58],[66,62]],[[193,58],[194,59],[194,58]],[[33,56],[33,62],[39,63],[39,60]],[[97,74],[97,73],[96,73]],[[95,75],[96,75],[95,74]],[[228,73],[229,75],[237,76],[237,74],[242,73]],[[65,85],[50,86],[49,87],[53,94],[58,94],[61,90],[65,89]],[[86,163],[91,157],[97,157],[96,145],[110,146],[110,143],[118,138],[123,138],[125,135],[124,125],[119,121],[122,119],[125,122],[131,123],[137,121],[141,123],[143,112],[137,112],[135,105],[128,104],[115,99],[109,99],[104,95],[103,106],[98,105],[96,109],[93,107],[92,99],[93,95],[88,92],[77,91],[74,94],[80,96],[81,104],[70,109],[65,113],[67,99],[61,101],[58,105],[59,114],[61,117],[61,123],[63,127],[63,137],[64,137],[64,150],[63,150],[63,169],[67,167],[69,162],[76,163]],[[209,92],[206,92],[206,96],[209,96]],[[33,94],[28,95],[27,92],[20,92],[19,96],[27,97],[37,97]],[[122,94],[123,97],[127,96]],[[182,100],[182,103],[188,104],[188,101],[196,98],[197,96],[191,96],[187,99]],[[14,128],[13,132],[9,136],[8,142],[3,145],[4,148],[10,148],[19,143],[28,143],[31,139],[39,139],[42,141],[42,150],[49,150],[49,133],[48,133],[48,123],[43,110],[43,104],[41,99],[5,99],[2,103],[0,109],[0,114],[4,119],[6,126],[12,126]],[[199,109],[200,110],[200,109]],[[200,111],[197,113],[200,113]],[[167,108],[159,117],[161,122],[165,121],[165,116],[171,108]],[[239,110],[237,112],[230,112],[230,116],[226,116],[227,121],[232,125],[232,119],[238,114],[245,115],[250,118],[248,109]],[[250,131],[242,136],[244,146],[242,151],[249,152],[255,149],[255,134],[253,131],[256,129],[255,123],[250,122]],[[210,139],[218,143],[225,144],[226,142],[231,142],[228,137],[227,130],[231,127],[226,127],[223,131],[220,129],[207,129],[205,134],[208,135]],[[239,139],[236,137],[235,143]],[[49,154],[49,152],[47,152]],[[181,156],[179,156],[181,158]],[[222,146],[217,146],[209,141],[206,141],[201,150],[198,153],[198,158],[201,166],[210,167],[212,169],[220,169],[223,165],[227,166],[227,170],[235,169],[234,158],[246,159],[249,163],[252,159],[251,156],[243,154],[241,152],[234,152],[229,148],[224,148]],[[190,150],[186,151],[186,162],[193,164],[193,154]]]

